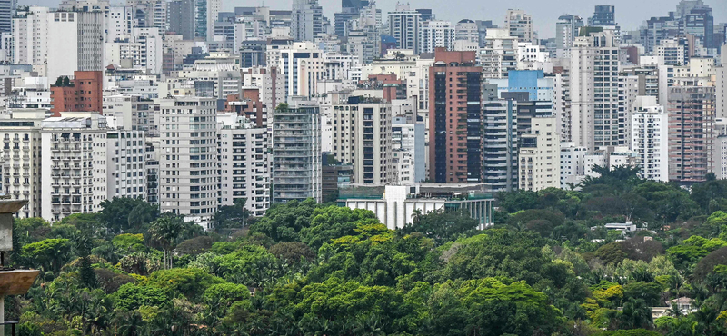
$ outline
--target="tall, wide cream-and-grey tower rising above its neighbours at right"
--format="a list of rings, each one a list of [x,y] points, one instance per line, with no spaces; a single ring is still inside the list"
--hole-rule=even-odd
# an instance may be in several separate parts
[[[571,54],[571,141],[589,151],[625,145],[618,42],[610,31],[592,32],[576,38]]]

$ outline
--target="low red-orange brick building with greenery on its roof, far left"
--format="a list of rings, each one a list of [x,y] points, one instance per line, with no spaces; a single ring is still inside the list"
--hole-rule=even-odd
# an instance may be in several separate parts
[[[104,73],[100,71],[75,71],[74,79],[60,80],[51,85],[51,112],[98,112],[104,105]]]

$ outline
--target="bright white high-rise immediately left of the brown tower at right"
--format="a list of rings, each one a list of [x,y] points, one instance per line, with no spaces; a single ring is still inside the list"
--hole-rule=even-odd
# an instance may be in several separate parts
[[[643,179],[669,181],[669,114],[656,97],[638,96],[632,114],[632,151]]]

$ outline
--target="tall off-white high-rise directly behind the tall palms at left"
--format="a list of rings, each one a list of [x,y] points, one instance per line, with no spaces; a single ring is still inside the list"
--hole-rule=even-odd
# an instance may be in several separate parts
[[[214,98],[159,100],[159,206],[209,228],[217,210],[217,109]]]

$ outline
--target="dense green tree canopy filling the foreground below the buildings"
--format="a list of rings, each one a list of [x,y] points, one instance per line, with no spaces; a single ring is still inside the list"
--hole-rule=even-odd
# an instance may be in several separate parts
[[[214,232],[123,198],[19,219],[9,262],[41,275],[5,319],[59,336],[727,334],[727,185],[597,170],[579,190],[499,194],[485,230],[460,212],[390,230],[313,200],[257,219],[236,203]],[[603,227],[624,221],[639,231]]]

